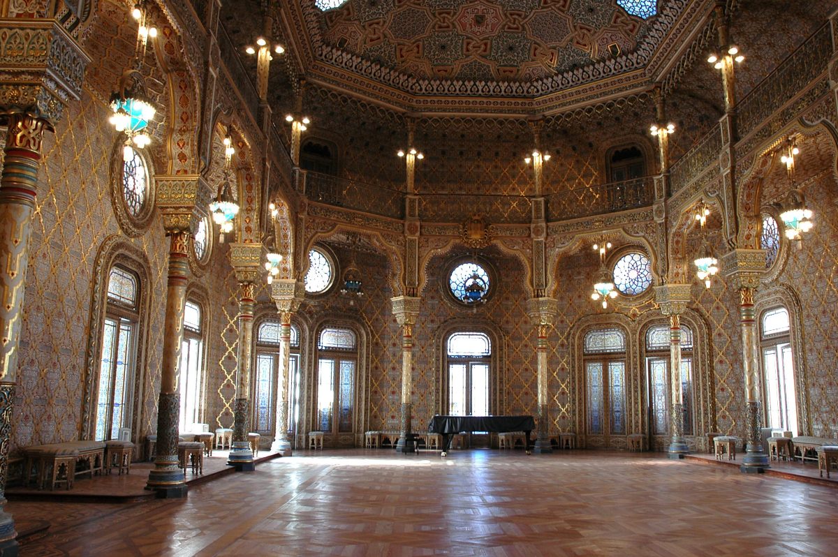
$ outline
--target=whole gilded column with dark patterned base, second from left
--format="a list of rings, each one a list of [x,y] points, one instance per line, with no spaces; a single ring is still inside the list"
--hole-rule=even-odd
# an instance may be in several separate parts
[[[163,317],[163,355],[158,398],[157,445],[154,468],[146,489],[160,498],[187,494],[184,472],[178,466],[180,418],[180,351],[184,341],[184,305],[189,280],[189,250],[199,219],[206,214],[210,189],[194,174],[158,175],[158,209],[169,238],[166,313]]]

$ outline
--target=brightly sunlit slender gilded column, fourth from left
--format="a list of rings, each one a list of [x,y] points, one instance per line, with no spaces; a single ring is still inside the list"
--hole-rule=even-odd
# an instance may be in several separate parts
[[[274,437],[272,451],[282,456],[292,456],[291,443],[288,441],[288,384],[289,362],[291,360],[291,317],[302,302],[303,283],[291,279],[274,281],[272,297],[277,302],[280,329],[280,370],[277,377],[277,391],[274,400],[277,401],[277,435]]]

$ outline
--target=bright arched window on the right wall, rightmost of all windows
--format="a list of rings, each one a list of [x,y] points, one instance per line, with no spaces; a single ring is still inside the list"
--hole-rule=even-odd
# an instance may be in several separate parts
[[[768,427],[798,431],[797,389],[791,348],[789,311],[773,307],[759,320],[759,338],[763,349],[763,407]]]

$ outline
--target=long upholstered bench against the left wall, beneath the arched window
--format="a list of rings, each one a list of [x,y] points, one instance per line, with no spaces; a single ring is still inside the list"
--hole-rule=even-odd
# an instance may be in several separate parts
[[[47,471],[51,470],[49,488],[54,489],[59,483],[65,483],[67,489],[73,487],[73,479],[80,474],[101,476],[105,467],[104,441],[66,441],[49,445],[28,446],[23,449],[26,463],[23,465],[23,485],[28,486],[35,471],[35,482],[39,489],[44,489]],[[63,479],[62,479],[63,478]]]

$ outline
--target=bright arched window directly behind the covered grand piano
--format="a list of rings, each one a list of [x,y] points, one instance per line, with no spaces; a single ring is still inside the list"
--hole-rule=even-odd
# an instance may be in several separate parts
[[[453,333],[447,342],[449,415],[492,413],[492,341],[485,333]]]

